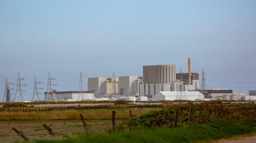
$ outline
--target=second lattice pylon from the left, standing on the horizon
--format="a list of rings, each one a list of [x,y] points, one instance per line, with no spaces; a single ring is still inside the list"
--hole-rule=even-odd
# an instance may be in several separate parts
[[[26,84],[21,84],[21,80],[25,80],[25,78],[20,78],[20,73],[18,73],[18,78],[17,78],[17,88],[16,88],[16,92],[15,92],[15,95],[13,97],[13,100],[12,102],[18,102],[18,101],[26,101],[24,95],[23,95],[23,92],[25,90],[22,90],[21,87],[22,86],[27,86]]]

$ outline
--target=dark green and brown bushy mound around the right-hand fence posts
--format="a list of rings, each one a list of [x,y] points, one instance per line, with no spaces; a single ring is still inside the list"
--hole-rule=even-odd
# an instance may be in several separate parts
[[[190,125],[201,124],[209,121],[220,119],[255,119],[256,106],[229,106],[229,105],[209,105],[186,104],[171,106],[158,111],[151,111],[147,114],[133,119],[133,128],[150,128],[150,127],[174,127],[175,116],[177,111],[177,127],[188,125],[189,110],[191,109]],[[129,123],[124,123],[118,127],[119,130],[128,129]]]

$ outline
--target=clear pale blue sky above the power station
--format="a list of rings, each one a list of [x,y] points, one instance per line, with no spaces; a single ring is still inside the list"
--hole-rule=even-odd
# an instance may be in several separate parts
[[[0,0],[1,101],[5,78],[17,83],[18,72],[30,101],[34,77],[43,93],[48,72],[57,91],[78,91],[82,71],[86,91],[90,77],[143,75],[143,65],[185,73],[188,58],[200,76],[204,68],[207,88],[248,95],[255,55],[255,0]]]

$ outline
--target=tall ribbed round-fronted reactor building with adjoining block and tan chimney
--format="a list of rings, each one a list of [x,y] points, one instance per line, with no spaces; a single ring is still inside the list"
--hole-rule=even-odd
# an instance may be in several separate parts
[[[199,73],[191,73],[190,58],[188,73],[182,73],[182,90],[197,90],[199,88]],[[143,81],[140,84],[140,96],[155,98],[159,92],[178,91],[181,74],[176,74],[176,65],[145,65],[143,66]]]

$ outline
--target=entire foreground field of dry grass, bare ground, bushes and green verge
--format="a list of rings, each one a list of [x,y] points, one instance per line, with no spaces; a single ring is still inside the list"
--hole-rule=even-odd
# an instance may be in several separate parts
[[[116,110],[116,133],[111,133],[112,111]],[[129,110],[133,115],[133,132],[129,130]],[[50,142],[130,142],[130,137],[140,138],[138,142],[168,142],[171,136],[173,142],[197,142],[219,139],[219,137],[241,135],[255,130],[256,105],[218,105],[209,103],[184,105],[171,105],[170,107],[160,108],[116,108],[116,109],[66,109],[51,111],[1,111],[0,112],[0,143],[7,140],[20,140],[12,131],[16,127],[23,132],[30,140],[34,139],[58,139]],[[86,119],[90,131],[89,136],[84,135],[79,114]],[[176,120],[177,117],[177,120]],[[220,121],[221,120],[221,121]],[[247,121],[246,121],[247,120]],[[177,127],[175,122],[177,121]],[[190,121],[190,126],[188,125]],[[46,123],[57,134],[57,137],[50,136],[42,127]],[[224,123],[224,124],[222,124]],[[230,123],[230,124],[229,124]],[[192,126],[191,126],[192,125]],[[220,125],[227,125],[220,127]],[[234,127],[233,127],[234,126]],[[237,126],[237,127],[235,127]],[[222,132],[238,129],[234,133],[227,132],[222,136]],[[199,139],[184,138],[189,132],[194,130],[209,130],[205,134],[198,135]],[[212,130],[212,132],[210,132]],[[198,132],[199,132],[198,131]],[[240,131],[240,132],[238,132]],[[166,132],[166,133],[163,133]],[[174,132],[180,132],[181,136]],[[220,132],[220,133],[218,133]],[[110,133],[110,134],[109,134]],[[211,136],[210,133],[213,135]],[[160,135],[160,138],[151,135]],[[199,133],[198,133],[199,134]],[[150,136],[149,136],[150,135]],[[118,136],[115,138],[115,136]],[[120,137],[119,137],[120,136]],[[202,139],[205,136],[206,139]],[[109,138],[109,139],[106,139]],[[147,140],[149,138],[150,140]],[[177,140],[177,138],[182,138]],[[89,141],[90,140],[90,141]],[[121,141],[121,142],[122,142]],[[137,141],[137,140],[136,140]],[[35,140],[34,142],[49,142],[48,140]]]

